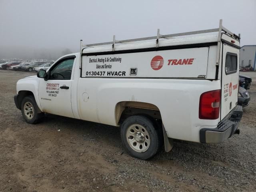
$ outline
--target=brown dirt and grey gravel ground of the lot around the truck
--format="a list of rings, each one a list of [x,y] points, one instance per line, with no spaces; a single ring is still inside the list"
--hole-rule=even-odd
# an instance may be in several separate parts
[[[124,152],[113,126],[51,114],[24,122],[13,96],[30,75],[0,70],[0,192],[256,191],[256,86],[240,135],[222,144],[175,141],[143,161]]]

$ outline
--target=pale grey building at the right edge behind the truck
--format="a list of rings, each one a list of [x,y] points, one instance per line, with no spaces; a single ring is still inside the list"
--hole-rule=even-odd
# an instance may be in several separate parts
[[[240,66],[251,66],[256,71],[256,45],[244,45],[241,47]]]

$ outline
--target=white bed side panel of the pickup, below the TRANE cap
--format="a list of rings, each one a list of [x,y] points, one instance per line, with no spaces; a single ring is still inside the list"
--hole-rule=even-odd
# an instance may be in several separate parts
[[[118,102],[146,102],[159,108],[168,137],[200,142],[199,130],[219,121],[198,118],[200,95],[217,89],[219,80],[79,78],[78,113],[83,120],[118,126]]]

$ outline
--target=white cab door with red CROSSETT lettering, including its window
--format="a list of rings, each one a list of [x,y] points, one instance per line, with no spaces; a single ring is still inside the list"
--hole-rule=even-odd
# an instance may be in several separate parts
[[[74,118],[71,86],[75,60],[75,56],[60,59],[47,72],[47,81],[40,78],[39,100],[44,112]]]

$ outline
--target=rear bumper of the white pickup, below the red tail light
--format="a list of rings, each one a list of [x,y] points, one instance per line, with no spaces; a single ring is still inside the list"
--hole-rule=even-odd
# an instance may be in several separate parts
[[[242,106],[237,105],[216,128],[202,128],[200,130],[201,143],[221,143],[230,138],[236,131],[243,115]],[[238,130],[239,132],[239,130]]]

